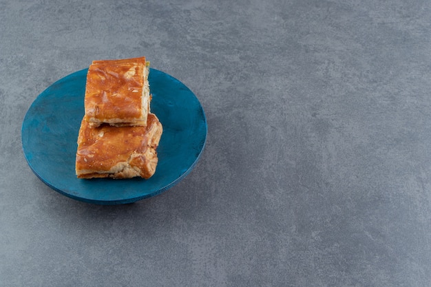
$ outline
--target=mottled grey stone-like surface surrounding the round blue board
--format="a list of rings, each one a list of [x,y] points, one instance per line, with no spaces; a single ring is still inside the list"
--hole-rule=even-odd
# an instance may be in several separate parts
[[[0,286],[431,286],[430,2],[162,2],[0,1]],[[45,186],[32,101],[142,55],[207,113],[196,169],[124,206]]]

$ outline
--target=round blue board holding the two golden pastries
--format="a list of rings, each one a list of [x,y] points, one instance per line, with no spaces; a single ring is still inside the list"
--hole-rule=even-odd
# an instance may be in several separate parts
[[[149,180],[78,179],[76,140],[84,115],[87,69],[40,94],[25,115],[21,136],[32,171],[63,195],[94,204],[125,204],[166,191],[193,169],[204,149],[207,120],[198,98],[176,78],[151,69],[151,112],[163,125],[158,165]]]

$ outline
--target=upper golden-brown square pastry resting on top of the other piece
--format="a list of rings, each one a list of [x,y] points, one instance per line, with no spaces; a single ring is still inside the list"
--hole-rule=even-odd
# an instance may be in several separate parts
[[[85,118],[103,123],[145,126],[149,114],[149,62],[145,57],[93,61],[85,85]]]

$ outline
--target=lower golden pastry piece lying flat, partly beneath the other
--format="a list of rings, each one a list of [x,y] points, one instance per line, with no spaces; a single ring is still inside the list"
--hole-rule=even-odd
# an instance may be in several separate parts
[[[157,147],[162,125],[148,114],[146,126],[90,127],[83,118],[78,133],[78,178],[134,178],[153,176],[158,163]]]

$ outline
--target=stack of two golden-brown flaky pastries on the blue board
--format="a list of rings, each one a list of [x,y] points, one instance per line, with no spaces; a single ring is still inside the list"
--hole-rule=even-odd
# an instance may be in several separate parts
[[[150,178],[162,125],[150,112],[145,57],[93,61],[76,151],[78,178]]]

